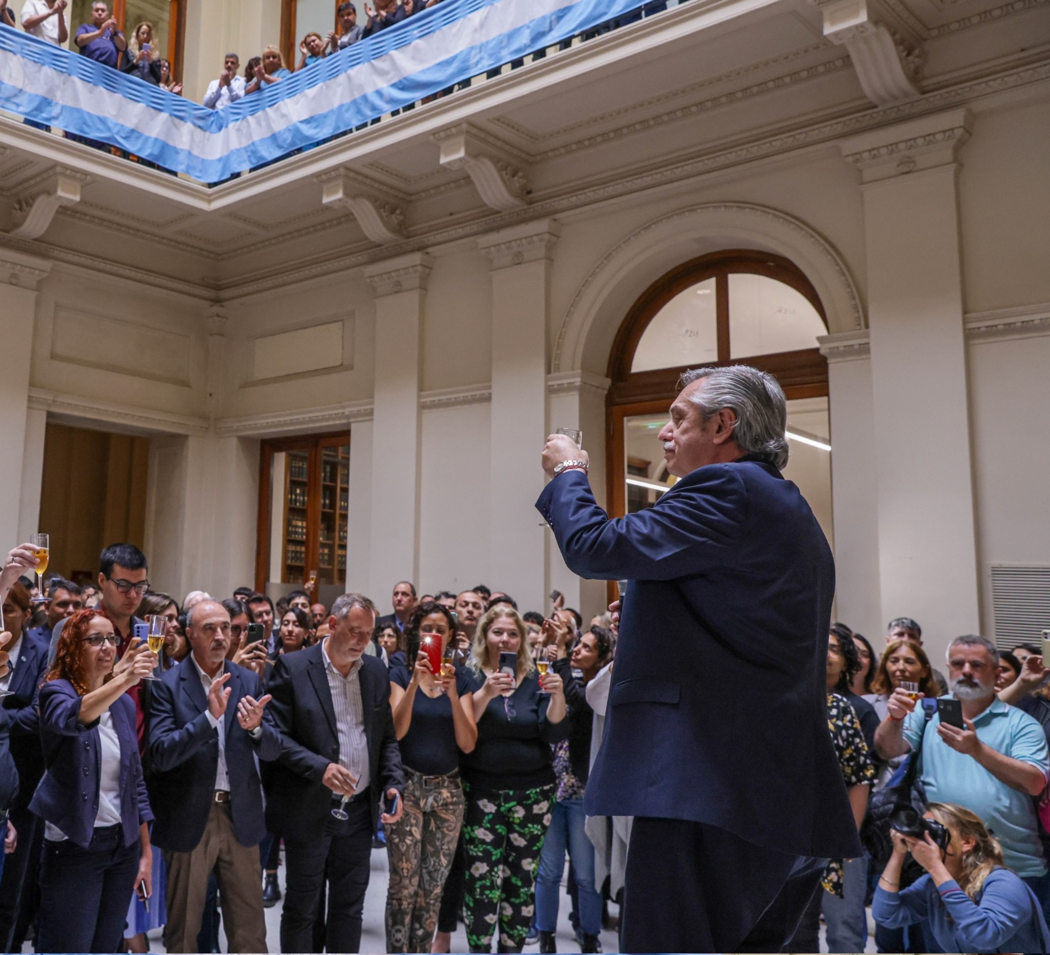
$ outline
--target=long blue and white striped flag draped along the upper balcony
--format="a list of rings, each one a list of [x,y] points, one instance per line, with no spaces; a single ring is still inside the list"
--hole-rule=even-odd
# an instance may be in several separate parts
[[[222,110],[0,26],[0,109],[210,186],[681,0],[444,0]]]

